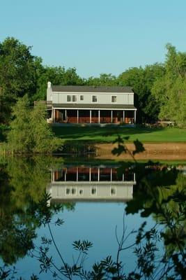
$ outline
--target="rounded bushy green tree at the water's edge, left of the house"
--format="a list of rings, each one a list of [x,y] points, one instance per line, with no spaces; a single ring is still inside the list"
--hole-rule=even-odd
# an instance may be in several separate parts
[[[61,139],[54,137],[47,123],[45,105],[33,109],[25,95],[18,99],[13,110],[14,119],[8,133],[8,149],[15,153],[52,153],[61,147]]]

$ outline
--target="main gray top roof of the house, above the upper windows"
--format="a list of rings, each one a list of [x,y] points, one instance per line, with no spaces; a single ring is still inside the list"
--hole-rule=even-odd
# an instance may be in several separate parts
[[[129,92],[132,87],[93,87],[87,85],[52,85],[53,92]]]

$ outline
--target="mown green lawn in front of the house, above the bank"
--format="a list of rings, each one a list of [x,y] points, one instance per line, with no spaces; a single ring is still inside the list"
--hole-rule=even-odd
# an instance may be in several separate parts
[[[138,139],[144,142],[186,142],[186,129],[177,127],[146,128],[146,127],[58,127],[53,130],[57,137],[65,140],[111,142],[119,134],[130,137],[129,141]]]

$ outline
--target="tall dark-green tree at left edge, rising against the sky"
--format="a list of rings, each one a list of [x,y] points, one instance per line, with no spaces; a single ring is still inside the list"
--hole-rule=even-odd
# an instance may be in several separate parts
[[[0,42],[0,122],[8,122],[17,97],[35,92],[38,63],[40,60],[31,55],[31,47],[17,39],[8,37]]]

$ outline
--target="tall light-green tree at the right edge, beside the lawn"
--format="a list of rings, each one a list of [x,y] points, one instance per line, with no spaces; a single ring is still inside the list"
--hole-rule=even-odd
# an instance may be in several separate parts
[[[166,50],[165,74],[155,81],[152,93],[160,104],[160,119],[185,126],[186,52],[177,52],[171,44]]]

